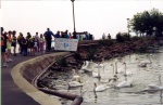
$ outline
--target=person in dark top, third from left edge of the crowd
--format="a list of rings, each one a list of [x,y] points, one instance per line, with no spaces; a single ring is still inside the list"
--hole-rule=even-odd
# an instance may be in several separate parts
[[[17,40],[17,38],[16,38],[16,31],[15,30],[13,30],[12,31],[12,42],[11,42],[11,45],[13,47],[13,55],[14,56],[16,56],[16,40]]]

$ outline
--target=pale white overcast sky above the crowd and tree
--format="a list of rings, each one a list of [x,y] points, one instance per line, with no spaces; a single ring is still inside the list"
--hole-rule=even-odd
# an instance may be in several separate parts
[[[4,30],[17,32],[36,31],[42,34],[49,27],[73,31],[73,11],[71,0],[1,0],[0,25]],[[153,8],[163,12],[163,0],[75,0],[76,31],[88,31],[96,39],[102,34],[127,31],[127,19],[137,12]],[[18,35],[18,34],[17,34]]]

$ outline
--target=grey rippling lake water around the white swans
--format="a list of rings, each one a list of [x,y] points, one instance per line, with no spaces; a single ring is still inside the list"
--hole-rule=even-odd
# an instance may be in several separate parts
[[[163,80],[163,47],[160,48],[158,53],[148,54],[131,54],[122,57],[122,60],[114,58],[110,61],[104,61],[101,64],[105,65],[104,69],[100,68],[101,79],[93,78],[91,74],[80,74],[83,87],[71,88],[70,90],[64,90],[78,95],[83,95],[84,103],[82,105],[163,105],[162,92],[147,93],[140,92],[148,84],[154,83],[158,86],[163,86],[161,80]],[[139,67],[138,61],[140,62],[152,61],[151,64],[147,64],[147,67]],[[113,76],[113,67],[111,64],[117,63],[117,68],[123,68],[123,63],[126,63],[126,70],[130,73],[127,76],[128,81],[133,81],[131,88],[110,88],[103,92],[93,92],[93,82],[97,84],[116,86],[125,79],[123,74],[117,74],[118,80],[115,82],[108,82],[109,78]],[[95,65],[91,65],[93,71],[98,71]],[[159,80],[159,75],[161,75],[161,80]],[[60,82],[62,84],[62,82]],[[61,88],[62,90],[62,88]],[[65,105],[70,105],[71,101],[67,101]]]

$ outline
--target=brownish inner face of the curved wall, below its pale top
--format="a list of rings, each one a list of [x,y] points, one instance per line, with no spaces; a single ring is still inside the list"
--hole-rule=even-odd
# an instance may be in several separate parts
[[[28,82],[32,83],[33,79],[37,75],[39,75],[43,69],[46,69],[51,63],[55,62],[61,57],[64,57],[67,54],[70,53],[60,52],[29,60],[22,65],[20,73]]]

